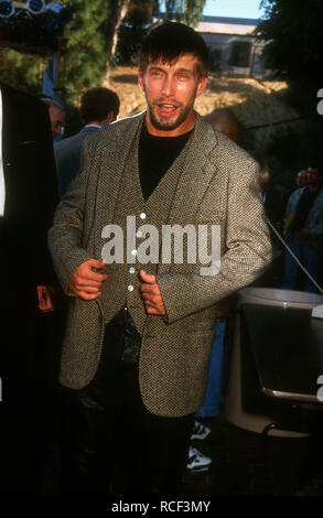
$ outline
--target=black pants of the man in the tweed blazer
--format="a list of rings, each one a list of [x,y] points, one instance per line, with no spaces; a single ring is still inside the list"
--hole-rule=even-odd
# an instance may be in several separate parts
[[[106,330],[94,380],[62,387],[65,495],[179,495],[194,416],[151,414],[139,391],[138,365],[126,363]]]

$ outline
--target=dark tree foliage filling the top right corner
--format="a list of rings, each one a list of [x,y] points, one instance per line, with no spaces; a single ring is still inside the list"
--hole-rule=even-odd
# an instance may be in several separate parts
[[[267,42],[269,67],[289,83],[293,104],[312,111],[323,87],[322,0],[262,0],[266,19],[257,34]]]

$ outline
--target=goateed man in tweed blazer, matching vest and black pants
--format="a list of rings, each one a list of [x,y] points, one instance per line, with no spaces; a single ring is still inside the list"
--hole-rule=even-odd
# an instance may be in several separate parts
[[[58,205],[65,494],[179,494],[216,304],[270,262],[256,163],[194,111],[206,83],[203,39],[181,23],[153,30],[139,55],[147,111],[86,140]]]

